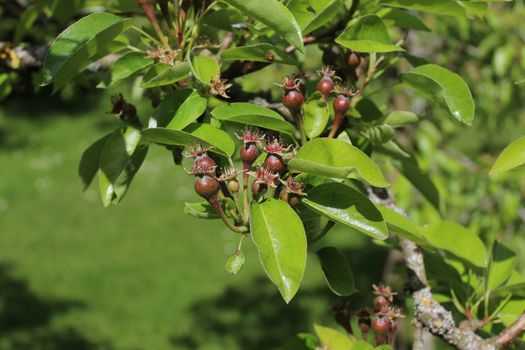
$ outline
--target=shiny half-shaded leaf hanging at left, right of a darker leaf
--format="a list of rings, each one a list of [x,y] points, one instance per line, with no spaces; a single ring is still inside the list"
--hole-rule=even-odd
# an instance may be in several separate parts
[[[140,131],[126,127],[108,138],[100,157],[99,188],[102,203],[117,204],[142,165],[147,146],[140,146]]]

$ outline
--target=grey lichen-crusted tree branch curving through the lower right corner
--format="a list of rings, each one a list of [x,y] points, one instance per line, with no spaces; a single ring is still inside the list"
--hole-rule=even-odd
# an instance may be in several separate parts
[[[405,211],[394,203],[386,190],[371,188],[369,189],[369,197],[373,202],[389,207],[405,217],[407,216]],[[447,343],[460,350],[498,349],[509,344],[525,331],[525,312],[516,322],[503,330],[499,335],[490,339],[483,339],[471,330],[456,326],[452,313],[446,310],[432,296],[421,249],[414,242],[402,237],[398,237],[398,239],[407,267],[413,275],[410,284],[412,290],[414,290],[416,327],[419,327],[419,323],[432,334],[441,337]],[[423,330],[416,328],[416,331],[420,334]],[[421,349],[419,339],[417,342],[414,342],[414,349]]]

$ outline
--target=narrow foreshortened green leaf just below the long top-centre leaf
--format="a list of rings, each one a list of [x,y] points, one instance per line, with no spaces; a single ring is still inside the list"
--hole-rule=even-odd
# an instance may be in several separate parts
[[[290,54],[268,43],[238,46],[221,52],[223,61],[274,62],[296,65],[297,60]]]

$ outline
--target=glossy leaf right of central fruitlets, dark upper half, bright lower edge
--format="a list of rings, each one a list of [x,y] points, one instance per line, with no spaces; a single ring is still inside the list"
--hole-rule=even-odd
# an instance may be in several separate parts
[[[330,219],[350,226],[375,239],[386,239],[388,230],[383,216],[360,192],[338,182],[314,187],[302,202]]]

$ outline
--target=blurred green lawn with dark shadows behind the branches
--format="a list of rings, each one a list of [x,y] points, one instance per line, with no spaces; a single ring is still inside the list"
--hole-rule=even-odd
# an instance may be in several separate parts
[[[0,349],[273,349],[333,324],[313,256],[288,306],[250,240],[240,275],[226,273],[237,237],[183,214],[198,198],[164,149],[151,149],[119,206],[104,209],[96,183],[82,193],[80,155],[115,126],[103,102],[0,107]],[[384,254],[367,254],[380,258],[361,288],[382,272]]]

